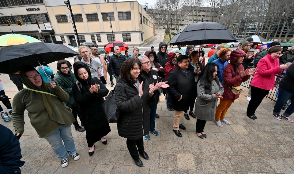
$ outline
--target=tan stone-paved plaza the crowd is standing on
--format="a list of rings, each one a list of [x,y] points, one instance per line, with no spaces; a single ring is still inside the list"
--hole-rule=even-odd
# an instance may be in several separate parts
[[[56,63],[49,66],[56,72]],[[13,98],[17,92],[15,85],[7,74],[1,74],[1,79],[7,95]],[[187,129],[180,130],[182,138],[175,136],[172,131],[174,113],[167,110],[164,96],[161,96],[157,107],[160,118],[155,120],[155,129],[160,134],[152,134],[151,140],[144,140],[150,159],[142,159],[143,168],[137,167],[130,157],[126,139],[118,135],[116,124],[110,124],[111,132],[105,137],[107,145],[100,141],[95,144],[92,157],[88,155],[85,132],[77,132],[72,126],[81,158],[77,161],[70,158],[70,164],[62,168],[49,143],[38,137],[26,112],[25,132],[20,139],[25,161],[22,173],[294,173],[294,124],[275,119],[271,115],[274,103],[268,99],[257,109],[258,119],[251,120],[245,114],[247,89],[244,91],[226,115],[231,125],[219,128],[209,121],[205,126],[208,137],[203,140],[195,133],[196,119],[192,117],[190,120],[182,117],[181,122]],[[1,106],[6,109],[2,103]],[[1,120],[1,124],[14,131],[12,121]]]

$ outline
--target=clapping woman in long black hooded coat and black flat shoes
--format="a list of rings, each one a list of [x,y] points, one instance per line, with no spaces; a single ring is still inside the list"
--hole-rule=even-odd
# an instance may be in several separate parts
[[[74,75],[78,83],[72,85],[73,96],[79,107],[79,117],[86,130],[86,139],[90,147],[89,155],[92,156],[95,149],[94,143],[101,140],[103,144],[107,144],[104,136],[111,131],[102,108],[103,97],[108,94],[108,89],[99,78],[91,77],[89,67],[83,62],[74,63]]]

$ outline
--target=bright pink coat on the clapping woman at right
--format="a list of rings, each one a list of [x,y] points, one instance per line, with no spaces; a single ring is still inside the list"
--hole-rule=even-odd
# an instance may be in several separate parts
[[[275,75],[280,74],[282,69],[279,66],[279,59],[273,58],[267,54],[257,63],[258,72],[250,83],[251,86],[258,87],[265,90],[274,88]]]

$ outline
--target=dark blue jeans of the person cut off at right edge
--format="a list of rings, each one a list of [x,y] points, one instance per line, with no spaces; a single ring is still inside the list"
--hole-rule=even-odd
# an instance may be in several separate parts
[[[288,108],[284,112],[284,116],[286,116],[286,117],[289,117],[294,112],[294,94],[292,94],[282,88],[279,88],[278,100],[275,104],[275,107],[273,108],[273,113],[280,114],[281,109],[283,108],[283,106],[285,105],[285,103],[289,99],[291,99],[291,104],[290,104],[290,106],[288,106]]]

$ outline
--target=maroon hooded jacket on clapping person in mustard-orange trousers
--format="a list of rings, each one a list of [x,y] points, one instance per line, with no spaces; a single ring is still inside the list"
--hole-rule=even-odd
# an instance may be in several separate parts
[[[246,56],[245,52],[244,55]],[[224,93],[223,97],[224,100],[229,100],[234,102],[238,97],[238,95],[235,95],[231,91],[231,86],[240,86],[241,82],[246,82],[249,78],[250,75],[241,77],[241,72],[244,71],[244,67],[242,64],[239,65],[238,70],[239,70],[239,75],[235,75],[234,67],[236,65],[237,57],[233,57],[231,53],[230,57],[230,63],[224,67],[223,70],[223,87],[224,87]]]

